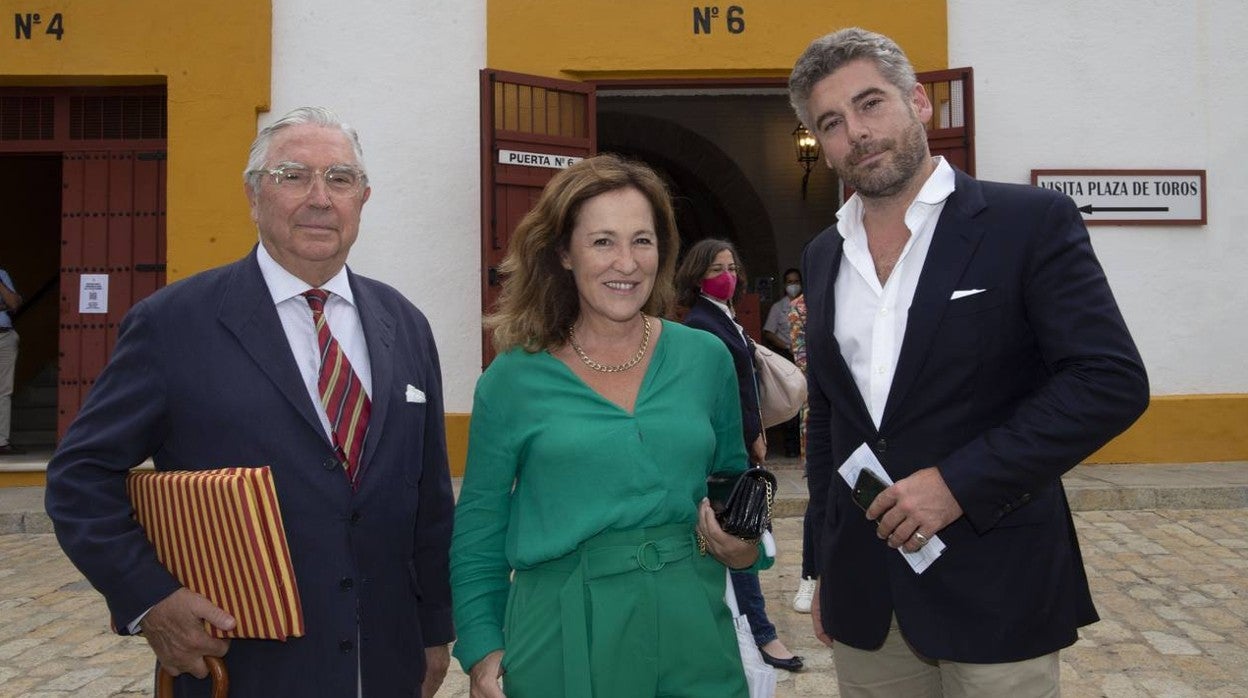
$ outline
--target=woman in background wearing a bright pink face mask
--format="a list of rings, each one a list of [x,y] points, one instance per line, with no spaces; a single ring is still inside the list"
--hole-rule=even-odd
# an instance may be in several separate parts
[[[733,355],[736,382],[741,398],[741,426],[750,460],[761,463],[768,455],[759,413],[759,391],[754,376],[754,342],[736,322],[733,303],[745,287],[736,247],[726,240],[706,238],[694,243],[676,270],[679,303],[688,308],[685,325],[705,330],[720,338]],[[768,618],[759,587],[758,572],[733,572],[736,604],[750,621],[754,642],[763,652],[763,661],[790,672],[801,671],[802,659],[795,657],[776,637]]]

